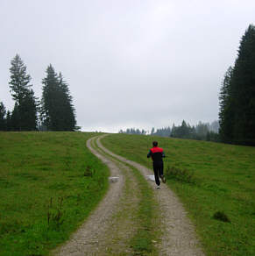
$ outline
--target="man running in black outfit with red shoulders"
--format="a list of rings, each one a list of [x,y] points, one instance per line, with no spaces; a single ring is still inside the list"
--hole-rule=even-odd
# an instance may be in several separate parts
[[[147,158],[152,157],[155,182],[157,184],[157,188],[160,188],[159,177],[163,183],[166,183],[166,178],[163,174],[164,165],[162,160],[162,158],[166,156],[163,149],[158,147],[158,141],[153,141],[152,146],[153,147],[150,149],[149,153],[147,154]]]

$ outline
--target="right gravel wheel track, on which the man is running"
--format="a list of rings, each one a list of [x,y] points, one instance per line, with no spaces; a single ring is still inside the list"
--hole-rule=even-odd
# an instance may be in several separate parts
[[[117,160],[137,168],[145,177],[152,174],[150,169],[112,153],[105,148],[100,141],[105,136],[107,135],[97,139],[97,145],[105,153],[109,153]],[[155,187],[152,182],[150,184]],[[163,230],[161,245],[158,246],[159,255],[203,256],[204,253],[195,235],[194,225],[188,219],[187,212],[184,210],[180,200],[166,184],[161,184],[160,187],[160,189],[155,190],[156,199],[159,202],[159,214],[161,214],[161,229]]]

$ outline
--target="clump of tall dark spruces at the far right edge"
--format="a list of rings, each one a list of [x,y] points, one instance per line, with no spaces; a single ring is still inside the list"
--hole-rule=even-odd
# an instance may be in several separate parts
[[[237,59],[224,75],[219,96],[220,139],[255,146],[255,26],[241,39]]]

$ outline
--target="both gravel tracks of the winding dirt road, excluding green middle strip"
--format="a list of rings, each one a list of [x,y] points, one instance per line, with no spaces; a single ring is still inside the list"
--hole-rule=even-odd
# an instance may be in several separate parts
[[[131,160],[111,153],[102,143],[105,135],[89,139],[89,150],[110,168],[110,175],[118,177],[110,182],[110,189],[90,217],[72,238],[53,252],[55,255],[135,255],[130,240],[135,234],[138,219],[138,181],[131,173],[135,167],[146,178],[152,171]],[[178,198],[165,184],[155,189],[148,181],[159,204],[156,228],[162,234],[157,240],[157,255],[204,255],[195,237],[194,226]],[[139,255],[152,255],[144,253]],[[155,253],[153,253],[155,255]]]

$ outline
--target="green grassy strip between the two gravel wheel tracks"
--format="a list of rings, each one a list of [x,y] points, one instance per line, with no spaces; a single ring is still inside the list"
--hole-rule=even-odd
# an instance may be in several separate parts
[[[137,210],[138,231],[131,238],[131,247],[134,255],[158,255],[155,245],[159,243],[160,231],[157,229],[159,224],[159,216],[156,214],[158,203],[156,202],[152,188],[140,172],[131,165],[117,160],[108,153],[105,153],[100,147],[94,144],[96,149],[106,155],[116,163],[121,162],[131,169],[132,174],[138,181],[138,189],[140,191],[139,204]]]

